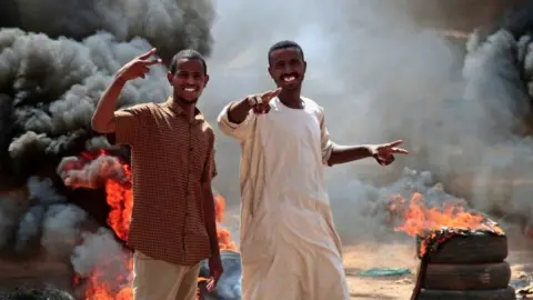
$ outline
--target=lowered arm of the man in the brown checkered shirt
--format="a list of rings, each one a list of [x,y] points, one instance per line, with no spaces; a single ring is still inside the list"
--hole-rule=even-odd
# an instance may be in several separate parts
[[[217,212],[214,209],[214,196],[211,188],[212,179],[217,177],[217,164],[214,162],[214,134],[210,140],[208,158],[202,173],[202,198],[205,220],[205,229],[211,244],[211,257],[220,254],[219,238],[217,236]]]

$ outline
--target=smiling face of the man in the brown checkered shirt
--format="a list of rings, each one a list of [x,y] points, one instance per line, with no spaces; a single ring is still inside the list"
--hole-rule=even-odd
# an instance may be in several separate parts
[[[179,59],[174,73],[169,72],[168,79],[174,88],[174,97],[187,102],[197,102],[208,84],[209,76],[200,59]]]

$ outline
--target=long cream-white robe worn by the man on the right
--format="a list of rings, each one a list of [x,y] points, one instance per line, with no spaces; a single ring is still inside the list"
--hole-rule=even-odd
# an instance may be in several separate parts
[[[331,156],[323,109],[271,101],[244,122],[219,116],[219,128],[241,143],[243,300],[348,300],[340,238],[324,164]]]

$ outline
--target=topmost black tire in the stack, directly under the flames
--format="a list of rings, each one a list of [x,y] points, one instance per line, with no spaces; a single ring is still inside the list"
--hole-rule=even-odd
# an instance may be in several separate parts
[[[421,238],[416,238],[419,254]],[[454,236],[439,244],[436,251],[426,253],[429,263],[495,263],[507,258],[507,237],[485,232]],[[419,256],[420,258],[420,256]]]

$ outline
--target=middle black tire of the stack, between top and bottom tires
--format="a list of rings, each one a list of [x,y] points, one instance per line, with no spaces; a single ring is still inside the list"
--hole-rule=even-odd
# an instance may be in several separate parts
[[[505,289],[511,279],[507,262],[484,264],[429,263],[422,288],[430,290],[497,290]]]

